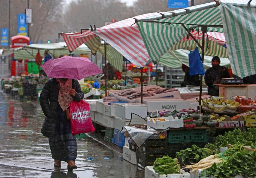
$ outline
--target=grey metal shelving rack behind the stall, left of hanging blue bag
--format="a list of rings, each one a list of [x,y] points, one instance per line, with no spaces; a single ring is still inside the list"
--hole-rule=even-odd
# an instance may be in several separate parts
[[[180,87],[184,80],[185,72],[182,68],[165,68],[165,88]]]

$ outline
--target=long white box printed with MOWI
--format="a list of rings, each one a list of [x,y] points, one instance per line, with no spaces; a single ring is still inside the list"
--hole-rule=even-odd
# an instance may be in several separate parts
[[[141,100],[137,99],[137,102],[140,103]],[[147,105],[148,112],[190,108],[190,101],[180,98],[145,98],[143,104]]]

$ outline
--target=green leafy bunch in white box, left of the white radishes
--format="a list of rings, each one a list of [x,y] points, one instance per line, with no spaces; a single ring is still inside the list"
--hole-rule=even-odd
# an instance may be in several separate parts
[[[153,164],[155,172],[158,174],[179,174],[180,167],[177,158],[170,158],[168,155],[157,158]]]

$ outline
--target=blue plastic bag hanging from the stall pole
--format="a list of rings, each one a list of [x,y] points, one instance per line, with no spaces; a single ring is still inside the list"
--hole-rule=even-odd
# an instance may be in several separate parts
[[[189,74],[192,75],[204,75],[205,69],[199,54],[198,47],[195,47],[194,51],[189,53]]]

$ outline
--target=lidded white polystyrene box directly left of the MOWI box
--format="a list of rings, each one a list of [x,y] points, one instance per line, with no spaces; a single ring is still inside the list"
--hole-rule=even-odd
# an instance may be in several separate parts
[[[131,119],[131,113],[137,114],[142,118],[147,116],[147,105],[141,103],[118,103],[115,109],[116,116],[122,119]]]

